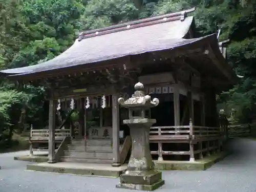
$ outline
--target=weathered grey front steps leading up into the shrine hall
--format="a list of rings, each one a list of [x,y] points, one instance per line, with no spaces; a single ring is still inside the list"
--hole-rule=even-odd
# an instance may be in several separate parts
[[[111,143],[112,140],[87,139],[85,144],[83,139],[72,139],[60,161],[111,164],[113,162]]]

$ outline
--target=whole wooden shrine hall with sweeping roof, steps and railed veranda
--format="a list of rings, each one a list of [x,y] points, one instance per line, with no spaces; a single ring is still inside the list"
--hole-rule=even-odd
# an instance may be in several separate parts
[[[221,150],[216,94],[237,76],[216,34],[195,36],[195,18],[188,16],[194,10],[85,31],[54,59],[0,72],[47,88],[49,130],[33,127],[30,141],[49,143],[49,163],[123,164],[132,141],[117,99],[129,98],[137,82],[160,100],[147,114],[157,120],[150,132],[154,159],[196,161]]]

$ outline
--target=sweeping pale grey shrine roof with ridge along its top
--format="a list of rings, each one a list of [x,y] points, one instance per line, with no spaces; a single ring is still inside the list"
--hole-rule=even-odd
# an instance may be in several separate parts
[[[183,39],[192,23],[193,17],[186,17],[183,11],[83,32],[59,56],[34,66],[3,70],[1,73],[37,73],[175,48],[199,40]]]

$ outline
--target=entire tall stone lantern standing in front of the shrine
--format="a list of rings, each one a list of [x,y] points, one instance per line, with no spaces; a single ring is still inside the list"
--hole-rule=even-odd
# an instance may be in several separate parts
[[[156,119],[146,118],[146,112],[158,105],[157,98],[151,100],[145,95],[144,86],[138,82],[134,86],[135,93],[126,101],[118,99],[118,103],[129,110],[129,119],[123,120],[130,127],[132,137],[132,153],[125,174],[120,175],[117,188],[155,190],[164,184],[162,173],[154,170],[154,162],[150,152],[150,127]]]

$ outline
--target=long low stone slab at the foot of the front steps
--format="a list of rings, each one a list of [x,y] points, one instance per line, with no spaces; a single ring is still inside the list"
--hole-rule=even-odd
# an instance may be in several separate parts
[[[117,178],[125,172],[127,165],[112,167],[111,164],[58,162],[27,165],[27,170],[73,175]]]

